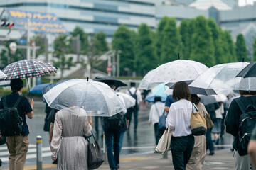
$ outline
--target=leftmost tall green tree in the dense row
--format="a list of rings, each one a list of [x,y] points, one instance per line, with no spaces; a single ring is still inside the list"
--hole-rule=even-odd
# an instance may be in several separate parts
[[[127,26],[121,25],[114,32],[112,40],[112,49],[120,50],[120,72],[124,73],[125,69],[134,70],[134,42],[132,32]]]

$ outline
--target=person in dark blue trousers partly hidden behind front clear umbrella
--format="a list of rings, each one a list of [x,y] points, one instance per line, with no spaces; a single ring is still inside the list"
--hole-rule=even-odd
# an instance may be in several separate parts
[[[111,89],[116,88],[114,81],[105,81],[105,84],[109,85]],[[119,95],[120,101],[124,104],[124,98]],[[119,155],[120,155],[120,135],[122,129],[125,128],[124,114],[127,113],[125,104],[123,105],[122,112],[112,115],[111,117],[102,118],[103,130],[105,132],[105,143],[107,148],[107,160],[109,162],[110,169],[119,169]],[[114,151],[114,152],[113,152]]]

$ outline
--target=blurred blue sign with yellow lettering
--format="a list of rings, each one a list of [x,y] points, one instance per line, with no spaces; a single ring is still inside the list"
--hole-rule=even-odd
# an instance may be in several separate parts
[[[7,9],[9,16],[13,19],[14,27],[18,30],[28,30],[33,33],[63,33],[68,34],[60,19],[53,13],[40,13]]]

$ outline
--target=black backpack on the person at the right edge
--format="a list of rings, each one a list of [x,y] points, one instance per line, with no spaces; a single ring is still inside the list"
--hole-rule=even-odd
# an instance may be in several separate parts
[[[252,130],[256,125],[256,108],[252,104],[245,108],[244,103],[240,98],[234,99],[242,111],[240,115],[240,125],[238,130],[238,136],[236,139],[236,146],[240,156],[247,154],[247,147],[250,142],[250,136],[252,135]]]

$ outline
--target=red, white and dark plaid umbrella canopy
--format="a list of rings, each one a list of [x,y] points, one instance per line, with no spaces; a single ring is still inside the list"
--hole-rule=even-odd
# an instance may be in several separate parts
[[[43,60],[34,59],[11,63],[4,67],[3,72],[7,77],[1,78],[0,81],[41,77],[57,72],[57,68]]]

